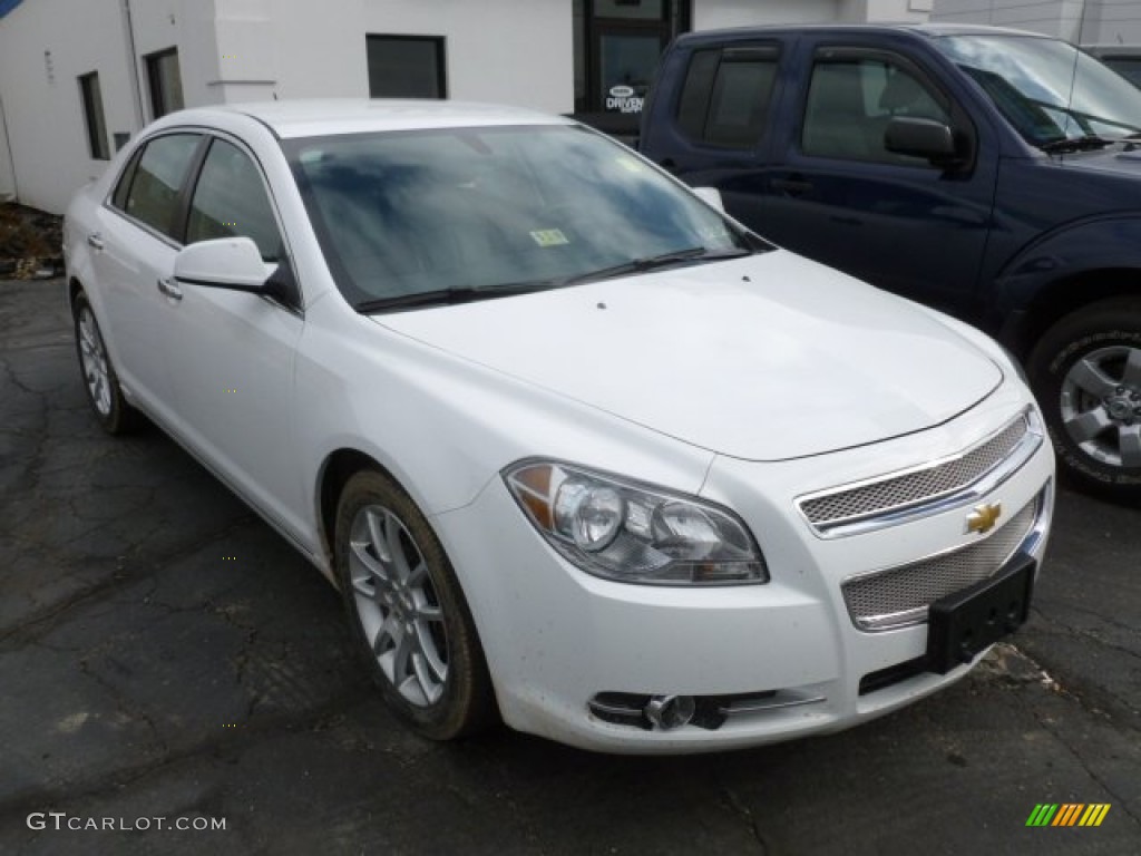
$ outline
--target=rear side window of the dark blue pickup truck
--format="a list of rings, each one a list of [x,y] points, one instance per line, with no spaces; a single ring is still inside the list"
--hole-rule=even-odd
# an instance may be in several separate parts
[[[722,148],[755,148],[777,74],[775,48],[697,50],[678,99],[678,127]]]

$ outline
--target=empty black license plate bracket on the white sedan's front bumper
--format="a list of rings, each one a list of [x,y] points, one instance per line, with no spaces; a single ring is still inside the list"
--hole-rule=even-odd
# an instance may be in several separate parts
[[[1037,562],[1018,554],[993,576],[931,604],[928,671],[946,675],[1018,630],[1030,615]]]

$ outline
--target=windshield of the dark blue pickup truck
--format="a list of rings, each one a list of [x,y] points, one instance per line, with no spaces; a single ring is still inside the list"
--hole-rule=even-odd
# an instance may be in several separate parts
[[[950,35],[936,43],[1031,145],[1141,132],[1141,90],[1071,45],[1028,35]]]

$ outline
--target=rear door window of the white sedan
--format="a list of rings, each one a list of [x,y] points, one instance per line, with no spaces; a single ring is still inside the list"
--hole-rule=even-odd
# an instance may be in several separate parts
[[[126,194],[115,189],[114,200],[123,200],[123,210],[162,234],[179,239],[178,197],[194,153],[199,146],[195,134],[171,134],[146,144],[143,156],[123,180],[130,185]]]

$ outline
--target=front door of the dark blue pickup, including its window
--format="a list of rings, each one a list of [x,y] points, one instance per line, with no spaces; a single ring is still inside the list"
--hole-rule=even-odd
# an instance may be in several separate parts
[[[767,169],[760,228],[777,243],[881,288],[971,314],[990,229],[997,159],[952,96],[903,53],[806,39],[808,73],[790,92]],[[787,114],[787,113],[786,113]],[[889,152],[891,119],[955,129],[956,167]]]

